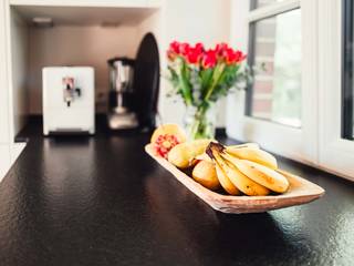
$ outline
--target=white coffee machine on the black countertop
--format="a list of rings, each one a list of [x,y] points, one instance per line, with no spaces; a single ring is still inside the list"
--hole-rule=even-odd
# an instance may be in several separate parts
[[[43,134],[94,134],[94,69],[49,66],[43,68],[42,79]]]

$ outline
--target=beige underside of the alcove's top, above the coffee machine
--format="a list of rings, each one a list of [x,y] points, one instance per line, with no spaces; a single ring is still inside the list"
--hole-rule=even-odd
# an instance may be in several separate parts
[[[34,17],[49,17],[54,25],[135,25],[155,12],[156,8],[101,8],[101,7],[42,7],[15,6],[21,17],[29,23]]]

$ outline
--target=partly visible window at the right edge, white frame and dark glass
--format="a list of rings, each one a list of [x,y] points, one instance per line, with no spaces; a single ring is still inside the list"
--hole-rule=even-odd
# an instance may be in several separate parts
[[[353,3],[319,2],[319,165],[354,181]]]

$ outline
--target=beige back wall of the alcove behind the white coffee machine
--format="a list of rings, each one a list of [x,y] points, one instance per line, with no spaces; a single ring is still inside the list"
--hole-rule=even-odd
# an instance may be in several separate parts
[[[95,69],[96,111],[104,112],[108,91],[107,59],[135,57],[139,39],[136,27],[56,25],[30,28],[28,90],[30,112],[42,113],[42,68],[90,65]]]

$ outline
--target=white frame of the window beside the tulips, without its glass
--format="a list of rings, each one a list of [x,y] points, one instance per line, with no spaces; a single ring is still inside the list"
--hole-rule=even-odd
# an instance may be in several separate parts
[[[317,0],[284,0],[250,11],[249,0],[232,1],[231,44],[248,50],[249,23],[301,9],[302,24],[302,126],[295,129],[244,115],[246,93],[228,96],[227,133],[240,141],[260,143],[266,150],[306,164],[317,163]]]

